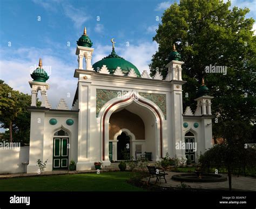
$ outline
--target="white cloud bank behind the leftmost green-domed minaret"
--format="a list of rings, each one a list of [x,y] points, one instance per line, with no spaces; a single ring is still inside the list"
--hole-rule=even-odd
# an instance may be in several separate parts
[[[1,50],[0,69],[1,79],[8,83],[15,90],[31,94],[31,88],[28,81],[31,67],[38,66],[39,55],[43,60],[43,68],[51,69],[48,98],[53,108],[56,108],[60,98],[64,98],[71,108],[73,97],[77,87],[77,79],[73,78],[73,72],[76,66],[72,60],[65,60],[55,57],[48,48],[18,48],[15,57],[10,57],[9,52]],[[8,73],[7,73],[8,72]],[[70,95],[70,97],[69,97]],[[40,97],[40,96],[39,96]]]

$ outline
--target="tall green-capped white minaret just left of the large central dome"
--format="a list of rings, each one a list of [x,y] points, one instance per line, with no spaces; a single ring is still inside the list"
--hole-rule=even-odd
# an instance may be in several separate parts
[[[87,35],[86,27],[84,27],[84,33],[77,41],[76,55],[78,55],[78,69],[84,69],[83,59],[85,58],[85,69],[92,71],[91,59],[94,48],[91,48],[92,41]]]

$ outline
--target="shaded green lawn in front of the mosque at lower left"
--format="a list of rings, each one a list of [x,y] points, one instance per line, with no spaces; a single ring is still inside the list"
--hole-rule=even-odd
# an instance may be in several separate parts
[[[131,172],[0,179],[0,191],[145,191],[126,182]]]

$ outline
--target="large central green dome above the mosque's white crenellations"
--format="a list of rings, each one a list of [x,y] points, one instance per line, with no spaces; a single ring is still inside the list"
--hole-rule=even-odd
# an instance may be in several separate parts
[[[138,77],[140,77],[139,70],[136,66],[134,66],[131,62],[126,61],[124,58],[119,57],[116,52],[114,51],[114,48],[110,55],[103,58],[102,60],[99,60],[95,62],[95,64],[92,65],[93,69],[98,72],[103,65],[106,65],[107,69],[109,70],[110,74],[113,74],[114,71],[116,71],[117,67],[120,67],[125,75],[127,75],[131,68],[134,69],[134,72],[137,74]],[[97,71],[98,69],[98,71]]]

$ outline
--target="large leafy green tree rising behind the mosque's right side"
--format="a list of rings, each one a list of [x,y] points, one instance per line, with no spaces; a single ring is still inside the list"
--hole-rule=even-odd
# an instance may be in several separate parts
[[[214,137],[225,137],[228,124],[245,123],[252,132],[255,124],[256,37],[253,18],[245,18],[249,9],[229,10],[231,2],[219,0],[183,0],[164,12],[162,23],[153,40],[159,44],[150,64],[151,75],[156,69],[165,77],[173,43],[181,54],[183,86],[188,97],[184,108],[195,109],[196,92],[202,78],[210,89]],[[227,67],[227,73],[207,73],[208,66]],[[250,138],[246,139],[250,141]]]

